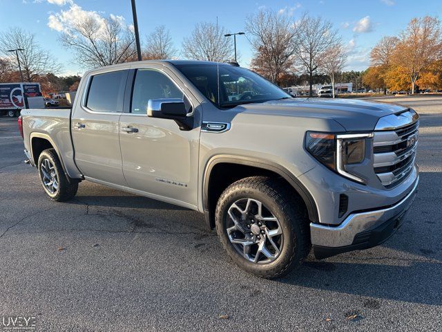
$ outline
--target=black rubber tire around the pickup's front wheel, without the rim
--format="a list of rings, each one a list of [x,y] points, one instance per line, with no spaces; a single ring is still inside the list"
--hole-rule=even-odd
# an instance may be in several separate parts
[[[280,253],[269,263],[258,264],[249,261],[238,252],[229,239],[227,228],[232,222],[228,214],[229,208],[241,199],[262,202],[279,221],[283,237],[280,242]],[[311,249],[309,221],[304,205],[298,197],[294,196],[288,185],[278,178],[252,176],[231,184],[222,192],[218,200],[215,225],[227,255],[238,266],[259,277],[273,279],[286,275],[302,264]]]

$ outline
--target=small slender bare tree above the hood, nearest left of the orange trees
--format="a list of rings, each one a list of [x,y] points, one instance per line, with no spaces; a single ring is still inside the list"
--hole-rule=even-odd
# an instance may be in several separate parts
[[[319,70],[330,77],[333,98],[336,97],[334,91],[335,78],[338,73],[343,71],[345,62],[347,62],[347,52],[340,39],[336,41],[336,44],[326,48],[323,55],[318,59]]]

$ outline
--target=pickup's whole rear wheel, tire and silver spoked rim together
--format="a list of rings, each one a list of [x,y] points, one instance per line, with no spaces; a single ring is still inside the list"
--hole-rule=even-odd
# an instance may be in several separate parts
[[[68,201],[77,194],[78,180],[69,178],[64,173],[55,149],[41,152],[38,169],[41,185],[52,201]]]

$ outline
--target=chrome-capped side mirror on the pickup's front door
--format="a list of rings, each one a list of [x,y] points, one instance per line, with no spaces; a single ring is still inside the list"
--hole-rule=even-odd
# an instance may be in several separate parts
[[[181,130],[193,129],[193,118],[187,116],[186,104],[179,98],[149,99],[147,116],[175,120]]]

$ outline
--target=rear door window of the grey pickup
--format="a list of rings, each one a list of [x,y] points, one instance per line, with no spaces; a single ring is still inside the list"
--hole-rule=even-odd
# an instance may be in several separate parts
[[[128,71],[111,71],[91,78],[86,107],[99,112],[121,112]]]

